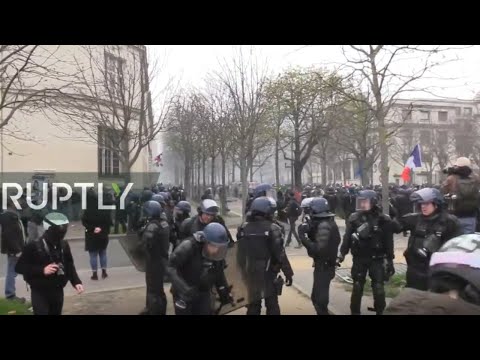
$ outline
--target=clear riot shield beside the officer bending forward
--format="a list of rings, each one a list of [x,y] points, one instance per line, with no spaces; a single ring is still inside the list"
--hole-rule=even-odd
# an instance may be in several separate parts
[[[245,261],[242,260],[245,256],[245,246],[246,244],[243,242],[243,239],[240,239],[228,249],[225,259],[226,268],[224,271],[233,301],[230,304],[222,305],[214,290],[214,309],[217,315],[228,314],[264,298],[265,282],[262,275],[265,272],[265,268],[263,267],[260,276],[258,276],[258,272],[257,276],[248,274]]]

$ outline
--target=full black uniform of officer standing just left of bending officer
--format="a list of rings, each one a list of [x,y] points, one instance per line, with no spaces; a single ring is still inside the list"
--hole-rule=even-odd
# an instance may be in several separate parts
[[[142,233],[145,247],[145,282],[147,286],[146,313],[166,315],[167,298],[163,290],[163,279],[168,263],[170,228],[165,214],[160,219],[150,220]]]

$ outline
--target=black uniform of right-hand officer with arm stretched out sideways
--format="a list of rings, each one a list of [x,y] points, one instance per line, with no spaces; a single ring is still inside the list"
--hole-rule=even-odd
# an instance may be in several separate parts
[[[410,231],[407,250],[406,287],[428,290],[428,269],[432,253],[438,251],[448,240],[463,234],[458,219],[445,210],[435,212],[431,216],[407,214],[395,219],[394,231]]]

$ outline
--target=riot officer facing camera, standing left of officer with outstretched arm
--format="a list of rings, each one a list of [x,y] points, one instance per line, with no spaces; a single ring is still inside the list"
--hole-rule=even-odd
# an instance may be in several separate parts
[[[356,212],[347,220],[338,263],[351,250],[353,256],[352,315],[360,315],[363,287],[367,272],[372,280],[374,308],[377,315],[385,309],[384,282],[395,272],[393,267],[393,229],[391,219],[381,212],[378,195],[373,190],[358,193]]]

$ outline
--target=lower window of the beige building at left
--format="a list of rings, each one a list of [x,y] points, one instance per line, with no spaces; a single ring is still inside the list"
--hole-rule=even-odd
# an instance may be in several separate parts
[[[106,127],[98,129],[98,175],[120,175],[119,147],[121,132]]]

